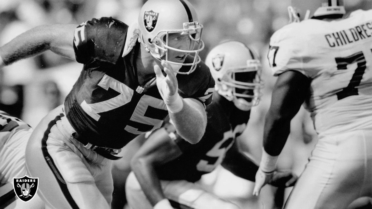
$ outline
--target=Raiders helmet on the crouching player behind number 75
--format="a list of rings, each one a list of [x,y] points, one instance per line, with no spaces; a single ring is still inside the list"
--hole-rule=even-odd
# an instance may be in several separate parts
[[[245,44],[223,42],[208,53],[205,64],[211,70],[216,91],[237,108],[248,111],[258,105],[263,87],[261,63]]]

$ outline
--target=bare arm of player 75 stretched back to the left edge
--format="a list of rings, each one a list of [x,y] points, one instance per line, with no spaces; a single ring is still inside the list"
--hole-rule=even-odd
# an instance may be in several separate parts
[[[75,60],[73,48],[77,25],[41,25],[32,28],[0,47],[5,65],[51,50],[55,54]]]

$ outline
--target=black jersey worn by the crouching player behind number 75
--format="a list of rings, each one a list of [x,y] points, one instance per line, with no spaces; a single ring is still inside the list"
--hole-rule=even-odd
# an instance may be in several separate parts
[[[178,136],[176,143],[182,155],[157,168],[159,179],[195,182],[213,171],[246,128],[250,115],[250,111],[239,110],[216,92],[206,110],[208,122],[201,141],[190,144]]]

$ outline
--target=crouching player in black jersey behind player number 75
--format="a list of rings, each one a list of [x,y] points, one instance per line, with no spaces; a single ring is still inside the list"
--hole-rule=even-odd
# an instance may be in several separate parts
[[[206,107],[203,138],[190,144],[171,123],[151,133],[132,158],[133,172],[126,181],[126,196],[133,209],[238,209],[195,183],[219,164],[254,181],[258,166],[239,151],[235,139],[246,128],[251,106],[259,102],[260,61],[243,43],[228,41],[209,52],[206,64],[217,91]],[[276,186],[291,186],[296,180],[290,172],[276,173],[275,178],[270,183]]]

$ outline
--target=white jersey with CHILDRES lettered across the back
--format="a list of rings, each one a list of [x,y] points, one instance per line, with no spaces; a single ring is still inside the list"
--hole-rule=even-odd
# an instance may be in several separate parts
[[[311,80],[305,107],[319,133],[372,126],[372,10],[345,19],[308,19],[275,32],[267,55],[273,75]]]

